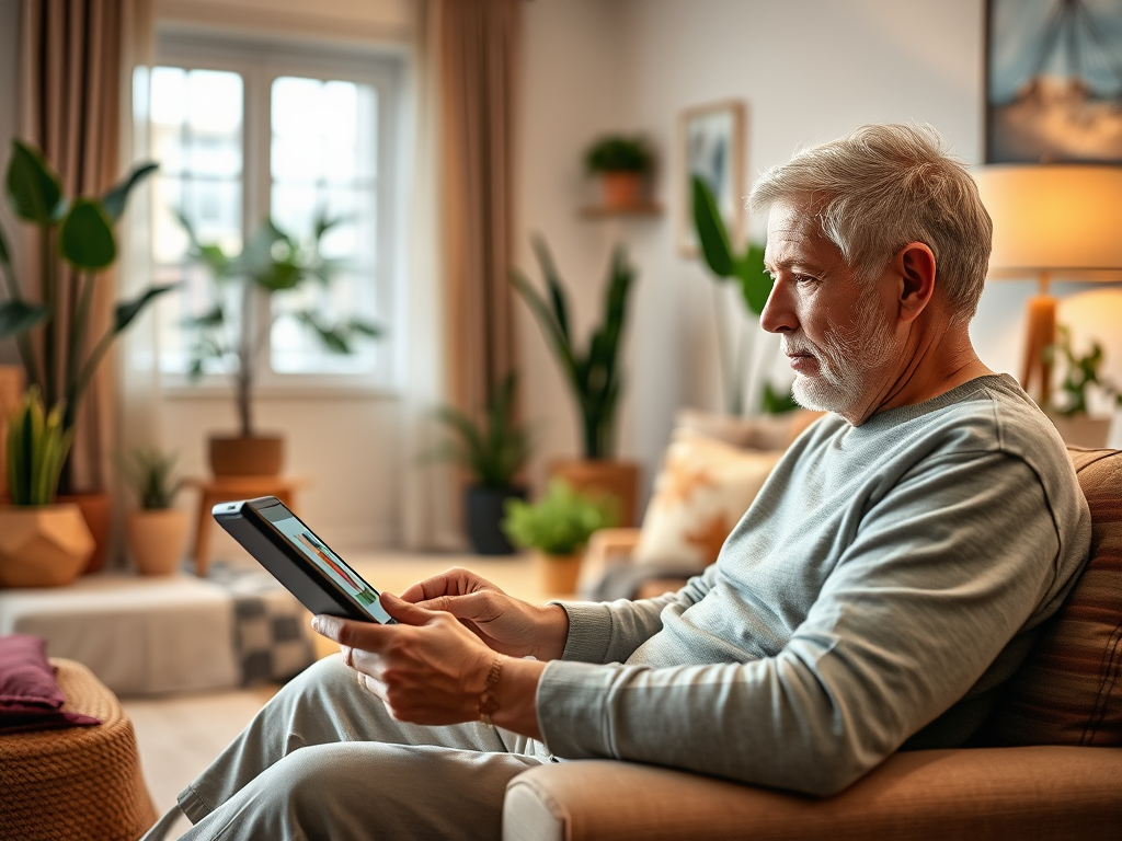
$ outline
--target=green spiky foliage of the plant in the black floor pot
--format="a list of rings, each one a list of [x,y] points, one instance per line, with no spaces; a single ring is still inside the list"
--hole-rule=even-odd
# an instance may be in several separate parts
[[[530,431],[512,419],[515,375],[511,372],[487,401],[485,419],[477,423],[452,406],[436,409],[436,417],[452,432],[430,454],[459,464],[488,488],[509,488],[530,458]]]

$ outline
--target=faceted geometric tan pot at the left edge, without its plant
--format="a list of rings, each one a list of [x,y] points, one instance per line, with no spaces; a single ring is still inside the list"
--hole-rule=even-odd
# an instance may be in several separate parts
[[[0,588],[68,584],[93,548],[82,511],[72,502],[0,508]]]

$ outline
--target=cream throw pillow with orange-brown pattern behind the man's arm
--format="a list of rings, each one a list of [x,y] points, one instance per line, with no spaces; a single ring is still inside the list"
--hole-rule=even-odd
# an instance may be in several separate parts
[[[677,429],[654,481],[633,560],[692,570],[708,566],[781,455]]]

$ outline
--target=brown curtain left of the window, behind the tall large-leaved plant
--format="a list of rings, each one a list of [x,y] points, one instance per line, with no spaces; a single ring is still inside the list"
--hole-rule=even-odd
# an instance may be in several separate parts
[[[43,149],[70,195],[99,195],[121,176],[127,159],[122,126],[130,119],[131,68],[150,41],[150,0],[24,0],[20,27],[20,135]],[[38,277],[38,267],[28,262],[21,276]],[[44,332],[40,354],[61,352],[75,281],[62,272],[58,317]],[[110,324],[114,286],[112,272],[98,277],[88,344]],[[73,490],[107,487],[113,370],[108,360],[101,366],[79,408],[68,477]]]

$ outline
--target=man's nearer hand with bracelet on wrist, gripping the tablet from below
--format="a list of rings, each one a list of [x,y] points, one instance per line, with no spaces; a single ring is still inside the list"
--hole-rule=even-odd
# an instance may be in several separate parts
[[[359,683],[381,699],[389,714],[414,724],[478,721],[480,696],[496,655],[449,613],[381,594],[398,625],[318,616],[312,627],[339,643]],[[491,720],[540,738],[537,681],[544,664],[503,657],[491,687],[498,708]]]

